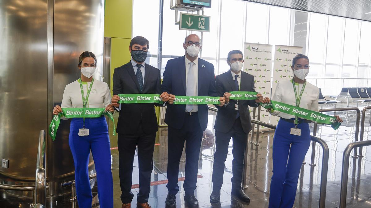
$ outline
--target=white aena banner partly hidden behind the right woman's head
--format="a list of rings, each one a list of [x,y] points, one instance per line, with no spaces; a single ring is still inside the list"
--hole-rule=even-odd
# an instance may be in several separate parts
[[[275,57],[273,63],[273,83],[272,95],[275,93],[277,83],[281,80],[290,80],[293,77],[291,70],[292,58],[296,54],[302,53],[303,47],[299,46],[279,46],[275,47]],[[271,124],[278,123],[278,117],[272,116]]]

